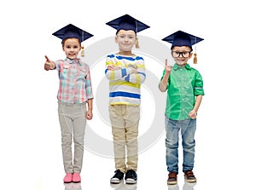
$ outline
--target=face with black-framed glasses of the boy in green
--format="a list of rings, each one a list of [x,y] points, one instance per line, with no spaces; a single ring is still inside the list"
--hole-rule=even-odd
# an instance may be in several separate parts
[[[172,48],[172,57],[179,66],[185,66],[192,57],[191,49],[188,46],[174,46]]]

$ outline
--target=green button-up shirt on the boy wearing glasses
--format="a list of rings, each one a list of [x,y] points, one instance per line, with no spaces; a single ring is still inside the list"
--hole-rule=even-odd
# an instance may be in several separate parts
[[[162,78],[166,71],[164,71]],[[162,79],[161,78],[161,79]],[[173,120],[189,118],[193,110],[196,95],[205,95],[200,72],[187,64],[172,67],[167,83],[166,117]]]

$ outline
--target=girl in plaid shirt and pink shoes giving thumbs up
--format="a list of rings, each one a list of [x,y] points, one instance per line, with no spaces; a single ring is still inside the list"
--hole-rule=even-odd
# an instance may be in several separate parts
[[[46,71],[57,69],[60,78],[57,99],[62,156],[66,172],[63,181],[65,183],[80,182],[79,174],[82,170],[84,154],[84,130],[86,119],[92,118],[93,94],[89,66],[82,62],[77,55],[81,49],[81,43],[93,35],[71,24],[61,28],[53,35],[62,39],[62,49],[67,56],[65,60],[56,61],[49,60],[45,56],[44,63]],[[74,153],[72,153],[72,141],[74,142]]]

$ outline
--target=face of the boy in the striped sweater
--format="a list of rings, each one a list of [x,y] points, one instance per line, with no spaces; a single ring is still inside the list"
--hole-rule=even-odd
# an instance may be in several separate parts
[[[134,31],[120,30],[115,37],[115,43],[119,44],[119,53],[131,54],[131,49],[136,40],[136,33]]]

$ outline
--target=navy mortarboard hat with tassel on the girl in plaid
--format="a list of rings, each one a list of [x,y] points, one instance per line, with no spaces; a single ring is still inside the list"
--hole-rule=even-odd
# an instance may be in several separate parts
[[[67,26],[62,27],[60,30],[54,32],[52,35],[55,37],[60,37],[62,39],[61,43],[67,38],[75,37],[79,39],[79,42],[82,43],[84,40],[93,37],[89,32],[85,32],[77,26],[73,26],[69,24]],[[82,46],[81,56],[84,56],[84,47]]]

